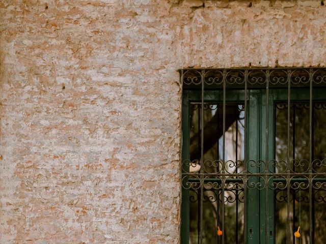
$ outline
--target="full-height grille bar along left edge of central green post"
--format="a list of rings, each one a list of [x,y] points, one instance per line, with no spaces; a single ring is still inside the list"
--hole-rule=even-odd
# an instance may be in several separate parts
[[[243,243],[247,243],[247,81],[248,70],[244,71],[244,135],[243,135]]]

